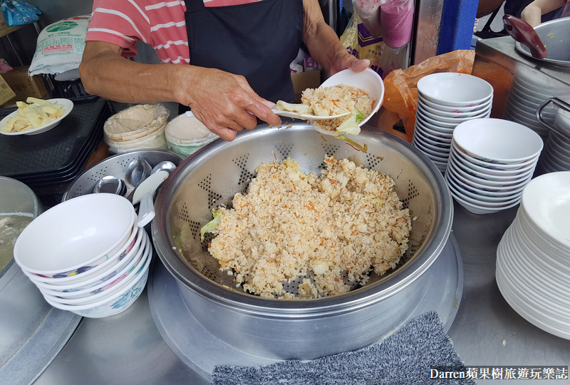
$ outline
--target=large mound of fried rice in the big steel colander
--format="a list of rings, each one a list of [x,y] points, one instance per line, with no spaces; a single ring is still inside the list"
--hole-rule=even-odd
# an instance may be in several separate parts
[[[410,213],[387,175],[325,159],[321,176],[291,158],[258,166],[247,193],[219,207],[210,254],[237,287],[292,299],[284,284],[304,277],[301,298],[342,294],[384,274],[408,248]]]

